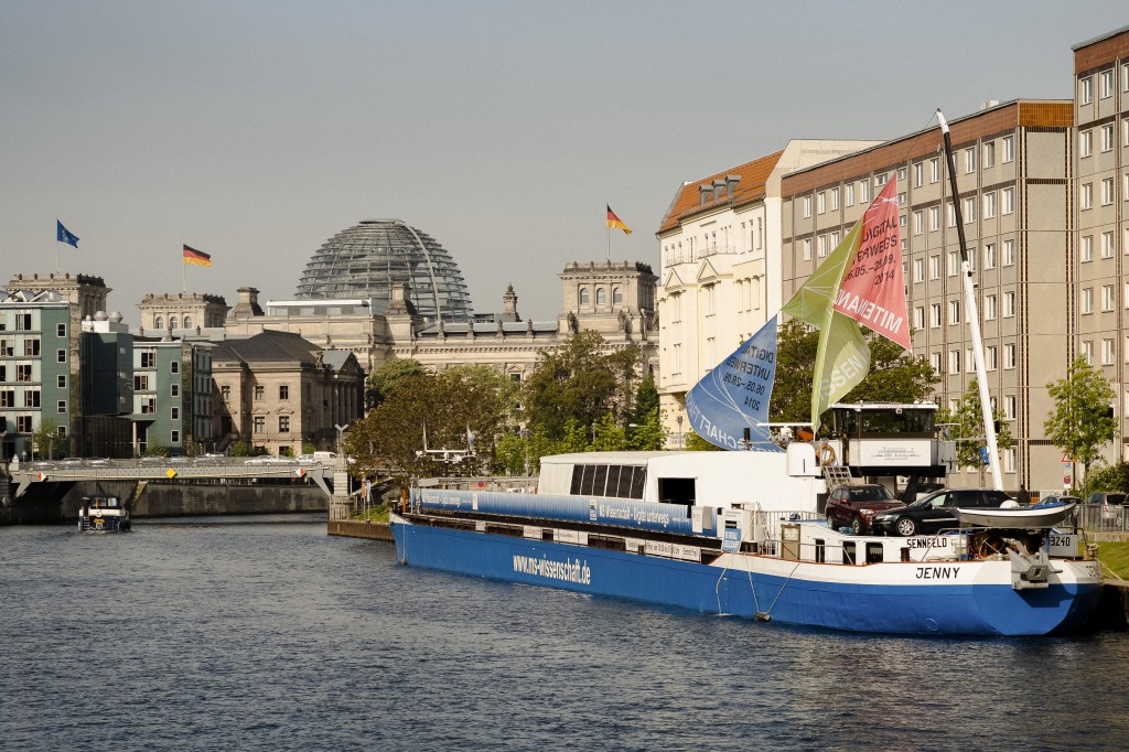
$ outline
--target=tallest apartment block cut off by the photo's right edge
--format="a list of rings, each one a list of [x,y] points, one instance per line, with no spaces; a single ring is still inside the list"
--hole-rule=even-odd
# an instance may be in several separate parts
[[[1113,379],[1120,451],[1129,443],[1129,27],[1074,47],[1075,253],[1065,314],[1077,355]]]

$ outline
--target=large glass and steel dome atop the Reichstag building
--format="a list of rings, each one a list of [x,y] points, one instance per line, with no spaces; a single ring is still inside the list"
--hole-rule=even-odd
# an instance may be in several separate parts
[[[408,282],[415,311],[429,320],[465,322],[473,316],[463,273],[427,233],[399,219],[369,219],[341,230],[306,264],[296,297],[370,299],[383,314],[392,288]]]

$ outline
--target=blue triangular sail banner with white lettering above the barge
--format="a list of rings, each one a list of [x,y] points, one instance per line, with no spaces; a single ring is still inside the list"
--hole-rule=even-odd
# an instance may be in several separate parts
[[[686,394],[690,427],[723,449],[784,452],[769,437],[769,399],[776,378],[777,318],[749,338]]]

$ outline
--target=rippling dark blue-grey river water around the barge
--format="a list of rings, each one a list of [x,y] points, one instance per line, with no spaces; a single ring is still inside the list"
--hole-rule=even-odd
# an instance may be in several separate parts
[[[0,528],[3,750],[1114,750],[1129,635],[920,639],[402,567],[324,517]]]

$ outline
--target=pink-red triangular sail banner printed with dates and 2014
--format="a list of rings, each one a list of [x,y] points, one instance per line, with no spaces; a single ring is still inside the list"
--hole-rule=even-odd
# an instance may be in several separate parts
[[[834,309],[910,350],[896,183],[891,176],[866,210],[858,254],[839,286]]]

